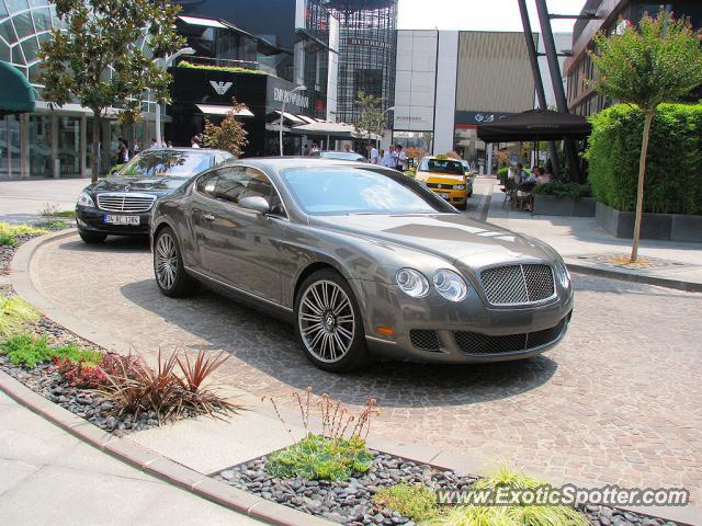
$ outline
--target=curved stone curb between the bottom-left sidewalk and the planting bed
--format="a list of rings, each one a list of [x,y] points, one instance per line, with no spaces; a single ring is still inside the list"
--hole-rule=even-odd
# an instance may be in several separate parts
[[[327,519],[267,501],[186,468],[169,458],[121,438],[55,404],[0,370],[0,391],[76,438],[117,460],[234,512],[276,526],[331,526]],[[338,526],[338,525],[337,525]]]

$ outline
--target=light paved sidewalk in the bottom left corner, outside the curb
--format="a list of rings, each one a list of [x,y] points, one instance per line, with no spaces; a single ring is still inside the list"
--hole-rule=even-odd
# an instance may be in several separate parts
[[[2,392],[0,517],[16,526],[264,524],[100,453]]]

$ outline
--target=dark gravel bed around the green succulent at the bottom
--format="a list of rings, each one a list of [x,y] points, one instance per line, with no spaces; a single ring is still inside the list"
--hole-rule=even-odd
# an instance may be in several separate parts
[[[265,471],[265,456],[227,468],[213,477],[269,501],[349,526],[415,526],[409,517],[393,510],[378,508],[371,502],[381,487],[408,482],[422,483],[435,490],[465,491],[478,479],[478,476],[461,476],[385,453],[372,453],[375,458],[371,469],[348,481],[272,477]],[[607,506],[587,505],[579,510],[593,526],[677,526],[671,521]]]

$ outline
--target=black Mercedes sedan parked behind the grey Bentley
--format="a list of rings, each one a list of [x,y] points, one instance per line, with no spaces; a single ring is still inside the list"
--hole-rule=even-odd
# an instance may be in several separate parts
[[[148,235],[151,206],[158,197],[233,158],[227,151],[204,148],[155,148],[138,153],[78,196],[76,220],[81,239],[101,243],[107,236]]]

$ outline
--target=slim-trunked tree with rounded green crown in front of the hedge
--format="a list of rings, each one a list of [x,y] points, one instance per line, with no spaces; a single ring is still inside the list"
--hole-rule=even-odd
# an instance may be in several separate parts
[[[638,27],[626,25],[611,36],[599,33],[590,52],[597,73],[590,85],[610,100],[635,105],[644,117],[632,263],[638,256],[650,125],[661,103],[675,102],[702,84],[700,36],[688,19],[676,20],[661,9],[656,18],[645,14]]]

